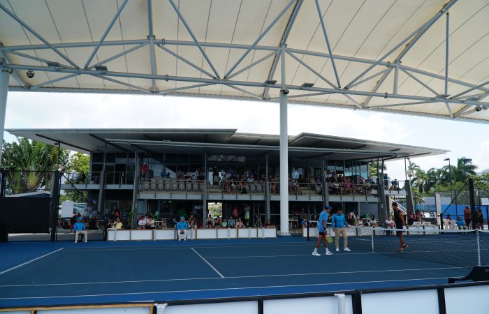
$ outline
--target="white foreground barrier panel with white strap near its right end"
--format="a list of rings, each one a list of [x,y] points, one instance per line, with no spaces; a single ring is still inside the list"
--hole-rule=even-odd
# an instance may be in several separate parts
[[[282,300],[265,300],[263,301],[263,313],[328,313],[328,314],[351,314],[351,296],[345,297],[345,313],[338,313],[337,297],[316,297],[301,299],[282,299]],[[370,313],[370,312],[363,312]]]

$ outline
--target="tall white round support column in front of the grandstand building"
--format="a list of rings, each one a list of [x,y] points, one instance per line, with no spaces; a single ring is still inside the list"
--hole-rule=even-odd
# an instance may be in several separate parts
[[[280,235],[289,235],[289,136],[287,89],[280,90]]]

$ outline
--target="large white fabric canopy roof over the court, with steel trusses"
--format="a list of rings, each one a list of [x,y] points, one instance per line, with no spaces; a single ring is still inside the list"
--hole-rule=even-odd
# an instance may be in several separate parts
[[[1,67],[10,91],[285,88],[293,103],[487,123],[489,3],[446,1],[0,0]]]

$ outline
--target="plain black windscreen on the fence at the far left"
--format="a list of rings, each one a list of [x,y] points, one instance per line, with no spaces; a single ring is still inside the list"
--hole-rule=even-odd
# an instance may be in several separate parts
[[[0,224],[8,233],[49,233],[50,198],[0,197]]]

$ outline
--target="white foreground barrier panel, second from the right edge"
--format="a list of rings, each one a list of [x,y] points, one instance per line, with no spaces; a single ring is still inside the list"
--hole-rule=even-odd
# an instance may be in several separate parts
[[[403,300],[406,301],[405,304],[403,304]],[[458,301],[460,302],[460,299]],[[461,303],[465,305],[465,302]],[[438,292],[436,289],[433,289],[365,293],[362,294],[362,313],[437,314],[439,313]],[[470,312],[462,311],[459,313]]]

